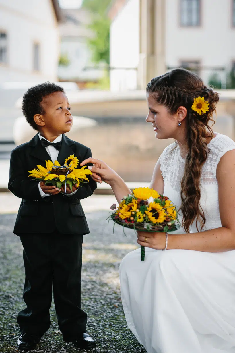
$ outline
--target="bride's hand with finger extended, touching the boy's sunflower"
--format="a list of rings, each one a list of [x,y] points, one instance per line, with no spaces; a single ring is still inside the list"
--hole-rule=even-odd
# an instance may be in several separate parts
[[[92,175],[91,178],[95,180],[98,183],[102,183],[101,180],[103,180],[107,184],[111,184],[112,181],[118,176],[118,174],[110,168],[106,163],[101,161],[100,159],[96,158],[87,158],[82,163],[80,163],[80,166],[83,167],[85,164],[92,163],[94,164],[93,167],[88,167],[88,169],[91,170]]]

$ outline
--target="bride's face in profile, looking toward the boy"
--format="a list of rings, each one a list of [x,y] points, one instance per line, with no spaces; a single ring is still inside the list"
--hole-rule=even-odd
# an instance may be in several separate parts
[[[157,104],[151,93],[147,93],[147,104],[149,114],[146,121],[152,123],[156,138],[174,138],[178,128],[177,116],[170,114],[162,104]]]

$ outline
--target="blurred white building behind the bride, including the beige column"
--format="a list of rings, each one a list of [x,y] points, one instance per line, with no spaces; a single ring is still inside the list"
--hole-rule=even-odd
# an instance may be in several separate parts
[[[175,67],[226,88],[235,70],[235,0],[114,0],[109,17],[112,90],[145,89]]]

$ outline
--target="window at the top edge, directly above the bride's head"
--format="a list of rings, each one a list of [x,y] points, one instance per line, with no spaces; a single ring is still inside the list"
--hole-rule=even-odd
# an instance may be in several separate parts
[[[180,0],[181,26],[200,25],[200,0]]]

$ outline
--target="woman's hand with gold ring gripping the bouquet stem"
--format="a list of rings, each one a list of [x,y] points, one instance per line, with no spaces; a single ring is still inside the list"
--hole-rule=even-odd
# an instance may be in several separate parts
[[[141,232],[137,231],[137,243],[156,250],[165,249],[165,232]],[[146,240],[146,241],[145,241]]]

